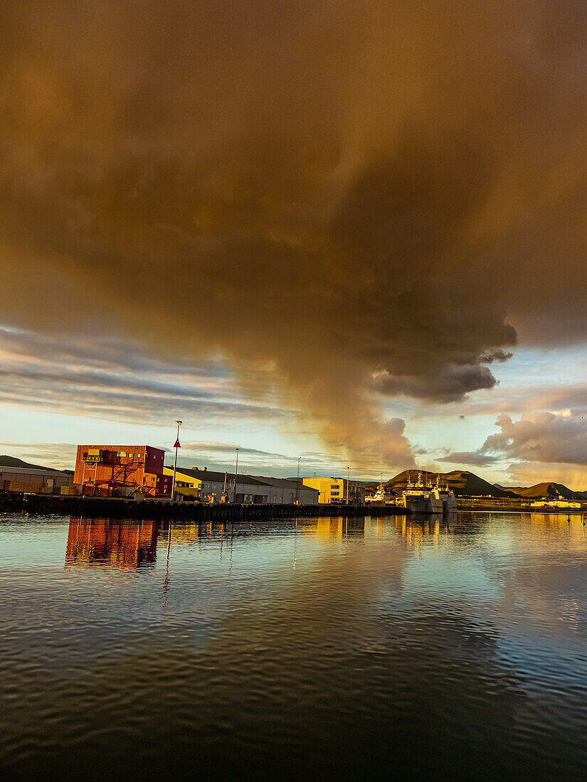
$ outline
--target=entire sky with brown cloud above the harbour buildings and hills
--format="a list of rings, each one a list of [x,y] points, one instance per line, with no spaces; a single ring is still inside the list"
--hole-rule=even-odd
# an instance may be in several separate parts
[[[22,0],[0,451],[587,488],[587,6]]]

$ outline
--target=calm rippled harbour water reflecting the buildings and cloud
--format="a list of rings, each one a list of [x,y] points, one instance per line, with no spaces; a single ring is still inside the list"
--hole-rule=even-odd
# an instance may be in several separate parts
[[[580,516],[0,517],[0,561],[3,778],[585,778]]]

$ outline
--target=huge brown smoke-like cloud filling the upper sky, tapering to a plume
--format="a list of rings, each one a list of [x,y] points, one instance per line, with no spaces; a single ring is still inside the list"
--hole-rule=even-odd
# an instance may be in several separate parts
[[[411,466],[376,390],[583,339],[585,4],[22,0],[0,33],[6,321],[271,370]],[[515,328],[514,328],[515,326]],[[254,389],[255,393],[258,392]]]

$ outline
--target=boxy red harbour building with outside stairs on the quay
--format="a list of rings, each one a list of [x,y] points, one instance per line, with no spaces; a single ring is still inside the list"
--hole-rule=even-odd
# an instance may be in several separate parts
[[[164,455],[149,445],[78,445],[74,485],[103,497],[171,497]]]

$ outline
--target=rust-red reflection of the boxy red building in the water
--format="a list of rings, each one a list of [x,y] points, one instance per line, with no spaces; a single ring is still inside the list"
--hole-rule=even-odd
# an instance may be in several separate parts
[[[160,524],[113,522],[106,518],[70,518],[66,565],[102,563],[113,568],[138,568],[157,558]]]

